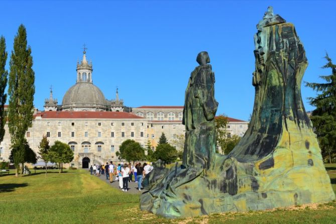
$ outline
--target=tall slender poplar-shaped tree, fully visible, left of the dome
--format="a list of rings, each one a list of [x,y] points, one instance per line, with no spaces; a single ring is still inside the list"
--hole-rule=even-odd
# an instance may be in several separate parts
[[[8,94],[9,99],[9,131],[13,152],[13,161],[18,176],[20,163],[24,161],[26,148],[25,134],[32,126],[33,100],[35,93],[35,74],[32,69],[33,57],[31,48],[27,46],[27,33],[24,25],[20,25],[14,38],[14,47],[10,61]]]

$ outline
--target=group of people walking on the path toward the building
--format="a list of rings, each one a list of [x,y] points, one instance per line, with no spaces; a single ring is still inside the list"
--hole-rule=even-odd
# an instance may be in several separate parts
[[[115,168],[115,165],[112,161],[110,164],[106,163],[105,165],[91,165],[90,172],[91,175],[106,175],[106,180],[109,180],[110,183],[113,182],[113,175],[116,175],[116,181],[119,181],[119,187],[122,191],[128,191],[128,183],[134,181],[138,183],[138,190],[141,191],[141,183],[145,176],[153,170],[153,166],[150,163],[141,163],[136,164],[127,164],[120,163]]]

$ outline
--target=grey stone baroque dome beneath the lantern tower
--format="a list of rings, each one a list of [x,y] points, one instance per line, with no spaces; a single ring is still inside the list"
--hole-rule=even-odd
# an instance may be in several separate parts
[[[62,110],[106,110],[106,99],[92,82],[77,82],[64,94]]]

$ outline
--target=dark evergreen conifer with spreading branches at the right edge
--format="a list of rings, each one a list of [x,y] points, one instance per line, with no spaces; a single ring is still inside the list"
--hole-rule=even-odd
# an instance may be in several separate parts
[[[319,77],[326,83],[306,82],[305,85],[320,92],[316,97],[308,97],[310,104],[316,107],[310,119],[322,153],[331,163],[331,154],[336,149],[336,65],[332,64],[328,54],[324,58],[327,63],[322,68],[331,68],[331,74]]]

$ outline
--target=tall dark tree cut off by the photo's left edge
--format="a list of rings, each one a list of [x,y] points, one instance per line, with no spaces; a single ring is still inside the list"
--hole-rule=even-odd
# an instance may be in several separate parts
[[[7,76],[8,76],[8,71],[5,69],[6,61],[7,61],[6,42],[5,42],[5,38],[1,36],[0,38],[0,143],[4,140],[5,124],[6,124],[5,103],[7,99],[7,94],[5,93],[5,89],[7,85]]]

